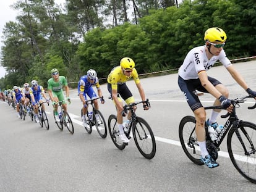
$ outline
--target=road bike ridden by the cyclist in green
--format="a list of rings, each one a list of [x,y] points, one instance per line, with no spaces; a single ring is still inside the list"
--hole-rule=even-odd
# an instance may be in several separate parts
[[[61,108],[61,111],[58,112],[59,120],[56,120],[54,111],[53,111],[53,117],[54,117],[55,123],[57,124],[57,126],[61,131],[63,130],[63,127],[66,127],[71,134],[74,134],[74,126],[73,126],[72,120],[70,119],[69,114],[66,111],[64,111],[62,107],[63,102],[64,101],[56,102],[56,104],[58,104],[58,106]]]

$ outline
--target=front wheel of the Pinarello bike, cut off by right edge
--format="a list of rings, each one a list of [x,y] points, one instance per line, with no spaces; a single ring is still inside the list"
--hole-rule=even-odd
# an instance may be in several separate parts
[[[256,183],[256,125],[250,122],[239,122],[237,128],[239,136],[249,154],[245,154],[244,148],[236,134],[236,128],[231,128],[228,133],[228,154],[234,167],[241,175],[252,183]]]

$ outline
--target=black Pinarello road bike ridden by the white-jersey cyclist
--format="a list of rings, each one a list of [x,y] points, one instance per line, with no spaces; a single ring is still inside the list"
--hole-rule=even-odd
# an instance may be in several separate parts
[[[211,140],[207,125],[205,125],[206,142],[210,156],[216,160],[218,158],[220,144],[228,134],[227,146],[231,162],[243,177],[252,183],[256,183],[256,125],[240,120],[236,115],[236,108],[240,107],[240,103],[245,102],[246,98],[252,98],[252,96],[231,100],[234,106],[233,111],[226,115],[221,115],[221,118],[228,119],[224,123],[223,129],[216,137],[216,140]],[[248,107],[248,109],[254,109],[255,107],[256,103],[254,106]],[[205,109],[223,109],[223,107],[210,106],[205,107]],[[203,162],[200,161],[200,148],[198,147],[197,136],[195,134],[195,117],[189,115],[183,117],[179,123],[179,139],[187,157],[195,164],[203,165]]]

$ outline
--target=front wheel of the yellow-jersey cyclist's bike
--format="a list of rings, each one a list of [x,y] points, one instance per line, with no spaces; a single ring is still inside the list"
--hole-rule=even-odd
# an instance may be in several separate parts
[[[156,154],[156,141],[150,125],[141,117],[137,117],[132,127],[132,135],[142,156],[152,159]]]

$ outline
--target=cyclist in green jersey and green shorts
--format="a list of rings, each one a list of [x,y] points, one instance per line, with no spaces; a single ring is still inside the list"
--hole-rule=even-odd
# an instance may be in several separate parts
[[[57,121],[59,121],[58,104],[56,103],[59,101],[63,101],[62,107],[64,111],[67,112],[67,103],[62,88],[65,88],[67,101],[70,102],[69,86],[67,86],[67,79],[64,76],[59,76],[58,69],[51,70],[51,77],[52,78],[48,80],[48,93],[49,98],[51,98],[51,101],[53,102],[54,117]]]

